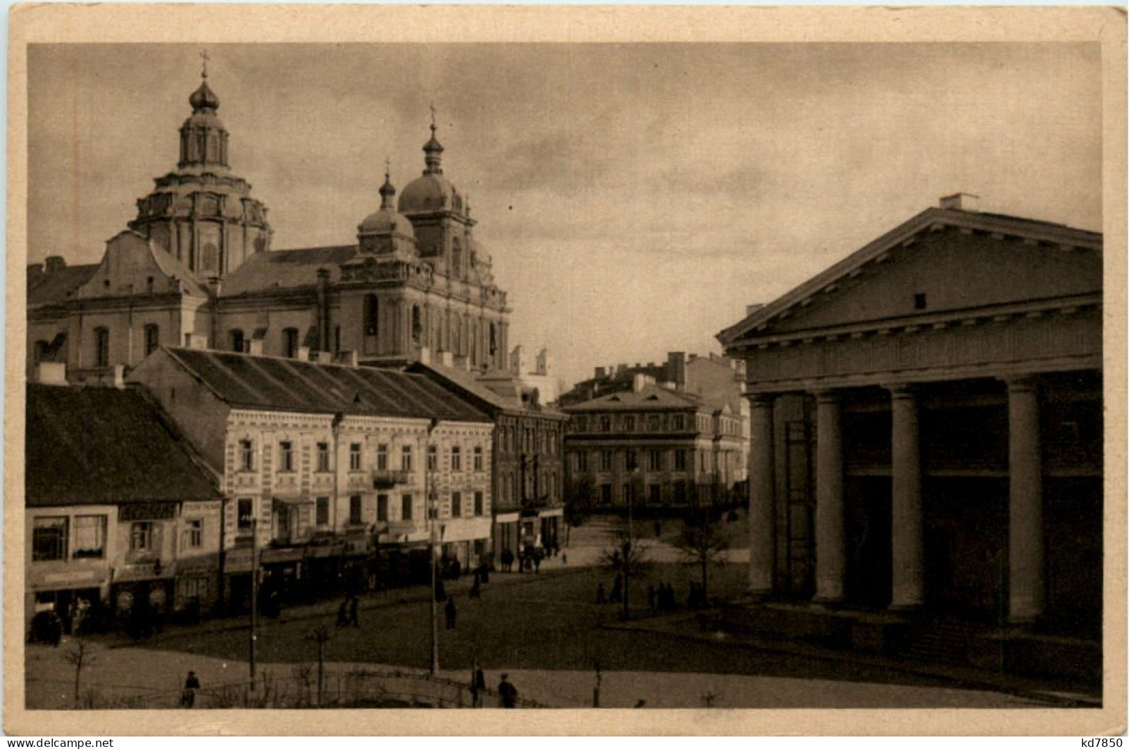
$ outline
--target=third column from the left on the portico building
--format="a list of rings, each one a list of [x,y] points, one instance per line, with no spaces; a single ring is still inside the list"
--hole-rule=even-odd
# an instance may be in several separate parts
[[[890,388],[893,412],[893,505],[891,523],[892,609],[916,609],[925,602],[925,553],[921,519],[921,449],[917,393],[910,386]]]

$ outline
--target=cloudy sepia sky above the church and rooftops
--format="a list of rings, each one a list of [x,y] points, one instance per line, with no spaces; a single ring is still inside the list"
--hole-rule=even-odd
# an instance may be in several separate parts
[[[349,244],[444,171],[567,380],[718,351],[767,302],[956,191],[1101,229],[1101,74],[1085,44],[216,45],[233,171],[274,248]],[[175,168],[200,47],[33,46],[29,261],[94,263]]]

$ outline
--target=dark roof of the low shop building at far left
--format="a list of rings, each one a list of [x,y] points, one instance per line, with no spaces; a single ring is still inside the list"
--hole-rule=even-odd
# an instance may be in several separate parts
[[[27,506],[219,499],[143,390],[27,385]]]

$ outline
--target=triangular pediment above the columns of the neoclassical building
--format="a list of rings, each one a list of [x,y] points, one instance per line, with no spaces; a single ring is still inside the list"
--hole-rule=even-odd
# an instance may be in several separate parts
[[[1025,231],[1030,229],[1030,231]],[[773,335],[1025,305],[1101,292],[1101,235],[930,209],[723,331]]]

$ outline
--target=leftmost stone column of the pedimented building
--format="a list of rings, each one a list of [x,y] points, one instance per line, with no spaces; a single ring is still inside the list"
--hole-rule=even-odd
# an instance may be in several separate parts
[[[749,446],[749,592],[769,596],[776,566],[776,482],[771,395],[755,395]]]

